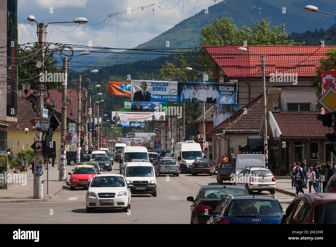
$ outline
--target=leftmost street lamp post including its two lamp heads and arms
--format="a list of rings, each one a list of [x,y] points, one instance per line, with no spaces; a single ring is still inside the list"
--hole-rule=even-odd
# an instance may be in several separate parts
[[[38,33],[38,49],[39,49],[39,54],[38,54],[38,74],[41,74],[44,72],[44,49],[45,49],[45,34],[46,34],[46,27],[48,26],[48,24],[52,24],[52,23],[79,23],[79,24],[84,24],[87,23],[88,20],[86,18],[80,17],[80,18],[76,18],[74,19],[73,22],[50,22],[47,23],[47,25],[45,25],[44,23],[37,23],[36,18],[34,17],[34,15],[29,15],[27,20],[29,22],[36,22],[37,24],[37,33]],[[67,57],[65,57],[67,58]],[[65,83],[63,83],[65,84]],[[24,89],[25,90],[25,89]],[[44,82],[40,82],[40,80],[37,81],[37,104],[36,104],[36,117],[39,117],[40,115],[40,110],[43,108],[43,103],[44,103],[44,95],[42,93],[42,91],[44,90]],[[25,90],[26,92],[26,90]],[[27,91],[28,92],[28,91]],[[64,102],[64,101],[62,101]],[[63,112],[62,112],[63,114]],[[62,127],[62,131],[65,128]],[[42,128],[37,128],[37,130],[42,131]],[[65,136],[64,136],[65,139]],[[64,155],[65,157],[65,155]],[[65,162],[65,161],[64,161]],[[43,169],[43,152],[35,152],[34,155],[34,164],[35,164],[35,171],[37,171],[37,168],[39,168],[39,170]],[[64,164],[63,164],[64,165]],[[65,167],[65,165],[64,165]],[[65,172],[64,172],[65,173]],[[35,194],[34,194],[34,198],[35,199],[42,199],[43,198],[43,173],[40,172],[40,174],[37,174],[37,172],[34,173],[34,182],[35,182]]]

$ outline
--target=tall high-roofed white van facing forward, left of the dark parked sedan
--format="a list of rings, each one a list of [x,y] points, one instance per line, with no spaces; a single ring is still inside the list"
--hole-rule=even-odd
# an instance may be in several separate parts
[[[177,161],[181,173],[190,171],[197,158],[203,158],[200,143],[195,141],[180,141],[175,145],[174,158]]]

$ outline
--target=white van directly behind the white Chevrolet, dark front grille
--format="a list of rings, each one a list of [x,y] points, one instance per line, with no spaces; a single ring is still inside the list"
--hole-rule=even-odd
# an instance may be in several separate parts
[[[135,148],[135,147],[132,147]],[[156,197],[156,175],[150,162],[127,162],[123,173],[132,195],[151,194]]]

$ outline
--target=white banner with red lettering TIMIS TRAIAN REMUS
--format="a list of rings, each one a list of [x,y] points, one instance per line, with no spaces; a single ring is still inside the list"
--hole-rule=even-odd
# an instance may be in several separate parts
[[[165,112],[112,112],[112,120],[117,124],[119,121],[165,121],[165,116]]]

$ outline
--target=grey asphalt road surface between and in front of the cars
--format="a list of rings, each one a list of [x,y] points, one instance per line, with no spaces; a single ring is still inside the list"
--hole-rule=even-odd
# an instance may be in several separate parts
[[[112,172],[119,173],[118,164]],[[70,191],[70,187],[52,198],[40,203],[1,203],[1,223],[190,223],[190,205],[188,196],[196,197],[204,185],[218,184],[216,176],[180,174],[175,177],[157,178],[157,197],[151,195],[133,195],[131,210],[124,213],[122,209],[96,209],[86,213],[84,189]],[[227,183],[229,184],[229,183]],[[256,193],[269,195],[269,193]],[[275,194],[284,208],[294,199],[291,196]]]

